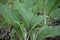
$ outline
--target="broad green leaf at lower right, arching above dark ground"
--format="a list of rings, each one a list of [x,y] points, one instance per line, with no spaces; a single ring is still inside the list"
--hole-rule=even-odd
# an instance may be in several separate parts
[[[60,26],[44,26],[40,29],[37,40],[44,40],[45,37],[54,37],[60,35]]]

